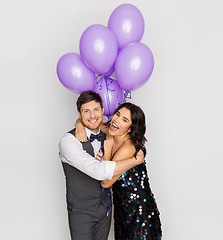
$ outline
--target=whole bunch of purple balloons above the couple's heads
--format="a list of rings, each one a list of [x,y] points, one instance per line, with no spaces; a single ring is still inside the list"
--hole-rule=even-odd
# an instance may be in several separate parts
[[[57,64],[60,82],[75,93],[92,90],[103,101],[105,115],[111,116],[123,102],[123,90],[144,84],[152,74],[151,50],[140,42],[144,33],[142,13],[132,4],[118,6],[108,26],[91,25],[82,34],[80,55],[67,53]],[[110,77],[115,72],[116,79]],[[95,74],[98,75],[95,80]]]

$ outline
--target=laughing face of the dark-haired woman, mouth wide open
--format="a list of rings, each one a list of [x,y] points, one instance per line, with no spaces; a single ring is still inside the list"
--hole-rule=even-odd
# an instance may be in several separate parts
[[[131,132],[131,112],[123,107],[117,111],[111,120],[109,134],[112,136],[123,136]]]

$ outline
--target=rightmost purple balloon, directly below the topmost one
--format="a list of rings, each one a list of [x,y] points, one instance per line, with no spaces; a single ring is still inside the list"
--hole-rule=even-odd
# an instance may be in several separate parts
[[[132,91],[144,84],[152,74],[154,58],[151,50],[143,43],[126,45],[115,62],[115,74],[120,87]]]

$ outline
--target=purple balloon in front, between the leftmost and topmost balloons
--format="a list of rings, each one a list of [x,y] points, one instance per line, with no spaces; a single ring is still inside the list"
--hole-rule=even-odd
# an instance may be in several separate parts
[[[98,74],[109,71],[118,54],[114,34],[108,27],[100,24],[92,25],[83,32],[79,48],[83,61]]]

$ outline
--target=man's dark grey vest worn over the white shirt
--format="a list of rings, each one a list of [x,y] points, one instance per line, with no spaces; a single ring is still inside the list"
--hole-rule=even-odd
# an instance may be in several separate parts
[[[75,136],[75,129],[69,133]],[[94,157],[94,149],[90,141],[82,143],[82,146],[87,153]],[[72,209],[97,211],[101,204],[106,208],[111,207],[109,188],[103,189],[100,181],[89,177],[67,163],[62,162],[62,164],[66,177],[68,211]]]

